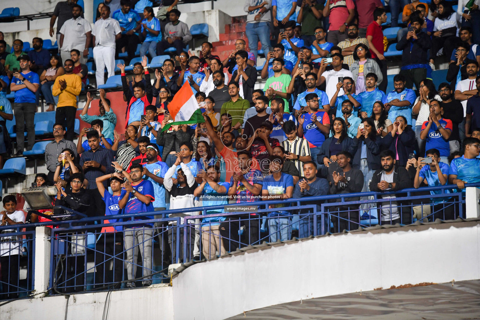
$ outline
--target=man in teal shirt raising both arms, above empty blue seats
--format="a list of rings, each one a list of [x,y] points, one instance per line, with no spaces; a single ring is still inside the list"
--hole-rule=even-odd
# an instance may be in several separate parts
[[[73,69],[75,70],[75,68]],[[117,124],[117,116],[113,113],[112,108],[110,108],[110,100],[105,97],[105,90],[100,89],[100,101],[98,101],[98,111],[99,116],[96,115],[88,115],[88,108],[90,107],[90,103],[92,102],[93,98],[92,95],[87,92],[87,102],[85,103],[82,112],[80,113],[80,119],[85,121],[86,123],[90,124],[93,120],[100,119],[103,121],[103,135],[105,139],[110,139],[113,141],[115,139],[113,135],[113,130],[115,129],[115,125]]]

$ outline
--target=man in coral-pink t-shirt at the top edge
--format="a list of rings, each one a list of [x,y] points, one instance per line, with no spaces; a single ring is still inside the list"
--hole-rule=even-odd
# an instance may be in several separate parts
[[[336,46],[347,39],[347,26],[355,16],[355,4],[352,0],[327,0],[323,10],[324,17],[329,17],[328,42]]]

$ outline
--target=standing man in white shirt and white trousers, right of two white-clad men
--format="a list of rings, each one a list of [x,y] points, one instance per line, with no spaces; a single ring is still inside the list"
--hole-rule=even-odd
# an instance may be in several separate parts
[[[92,30],[94,48],[93,59],[96,64],[96,85],[105,83],[105,67],[108,77],[115,75],[115,40],[120,39],[121,29],[117,20],[110,18],[110,8],[103,6],[101,19],[98,19]]]

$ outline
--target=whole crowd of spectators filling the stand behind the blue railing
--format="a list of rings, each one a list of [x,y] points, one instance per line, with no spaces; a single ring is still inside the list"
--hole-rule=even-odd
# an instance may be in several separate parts
[[[380,0],[303,0],[301,4],[246,0],[248,45],[245,39],[236,40],[236,50],[223,60],[212,53],[214,47],[207,41],[199,56],[184,51],[192,36],[188,25],[179,21],[178,0],[164,0],[156,16],[151,6],[144,6],[150,1],[120,0],[116,10],[108,6],[110,2],[114,1],[98,6],[93,27],[82,18],[76,0],[59,2],[50,24],[53,36],[58,19],[59,52],[53,55],[42,48],[40,38],[32,40],[28,53],[22,40],[13,41],[8,53],[9,44],[0,39],[0,125],[5,133],[5,120],[12,120],[14,114],[16,156],[25,149],[24,131],[26,150],[33,147],[40,96],[47,111],[56,110],[54,140],[45,148],[47,172],[36,175],[37,186],[57,187],[56,205],[103,216],[446,184],[465,190],[465,183],[480,182],[478,0],[469,7],[467,1],[459,1],[456,12],[451,2],[442,0],[429,4],[390,0],[393,17],[398,16],[400,3],[404,5],[406,24],[397,34],[401,67],[391,92],[385,92],[382,24],[387,15]],[[392,19],[391,25],[396,24]],[[259,70],[265,79],[263,89],[255,69],[259,43],[266,58]],[[125,65],[115,66],[114,61],[127,52],[128,65],[138,44],[143,59],[128,77]],[[115,130],[117,118],[123,115],[99,89],[98,106],[91,104],[93,95],[86,94],[80,119],[91,128],[80,132],[75,145],[73,123],[88,76],[85,62],[91,46],[97,86],[105,82],[105,68],[108,77],[115,67],[120,69],[126,128],[121,135]],[[172,59],[149,70],[147,55],[163,55],[170,47],[176,49]],[[449,65],[446,79],[436,87],[431,77],[440,55],[449,59]],[[175,99],[184,84],[191,87],[202,112],[196,123],[179,123],[180,118],[171,116],[172,108],[181,107]],[[10,92],[15,92],[12,104],[5,97]],[[99,115],[89,115],[96,107]],[[0,134],[3,156],[8,156],[9,144],[8,133]],[[431,203],[413,208],[395,201],[379,204],[378,219],[382,224],[408,224],[412,217],[420,220],[422,214],[438,208],[445,209],[430,220],[454,219],[458,212],[452,206],[446,209],[449,201],[434,197]],[[25,221],[12,196],[3,198],[3,206],[1,225],[49,221],[35,213]],[[286,205],[275,207],[282,209],[267,214],[272,242],[291,237],[292,212]],[[369,216],[369,210],[358,205],[339,202],[331,208],[339,212],[332,217],[334,232],[356,229],[360,219]],[[128,248],[144,243],[140,250],[144,265],[152,263],[152,227],[161,224],[142,220],[161,217],[158,214],[136,217],[141,228],[105,229],[106,251],[98,261],[125,248],[131,262],[128,279],[133,279],[132,261],[138,251]],[[170,217],[180,216],[183,223],[189,214],[197,212]],[[300,212],[300,217],[308,214]],[[254,243],[262,214],[251,215],[257,219],[248,223],[231,216],[205,217],[202,236],[200,231],[181,235],[180,247],[185,238],[189,257],[214,258],[239,246],[240,233],[235,230],[240,227],[245,228],[243,237]],[[309,219],[300,221],[299,237],[312,234],[311,224]],[[178,260],[176,232],[170,228],[159,239],[171,261]],[[15,272],[4,274],[4,270],[17,263],[8,257],[19,253],[3,244],[1,250],[2,278],[15,281]],[[121,269],[123,264],[115,269],[115,281]],[[151,279],[145,278],[144,285],[150,284]]]

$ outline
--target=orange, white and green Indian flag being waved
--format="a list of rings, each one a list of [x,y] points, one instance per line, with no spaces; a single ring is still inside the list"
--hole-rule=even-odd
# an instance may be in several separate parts
[[[205,122],[188,81],[183,83],[180,90],[173,96],[172,101],[168,104],[168,111],[173,122],[165,125],[161,133],[168,130],[171,125]]]

